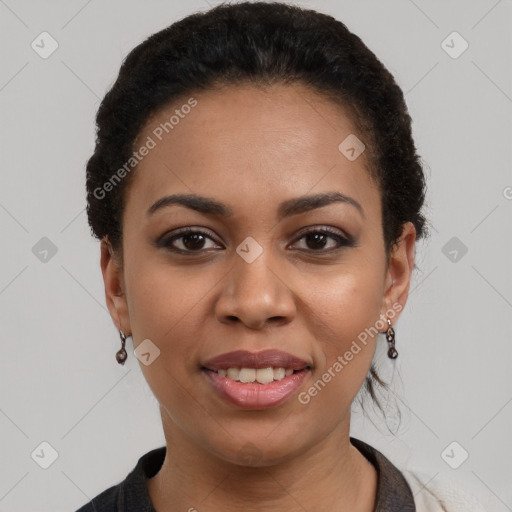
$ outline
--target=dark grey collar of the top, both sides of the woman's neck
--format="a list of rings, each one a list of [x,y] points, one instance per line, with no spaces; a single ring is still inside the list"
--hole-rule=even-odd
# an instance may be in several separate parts
[[[369,444],[353,437],[350,442],[377,470],[377,498],[373,512],[415,512],[412,491],[402,473]],[[156,512],[149,498],[146,479],[158,473],[165,452],[164,446],[143,455],[125,480],[98,494],[76,512]]]

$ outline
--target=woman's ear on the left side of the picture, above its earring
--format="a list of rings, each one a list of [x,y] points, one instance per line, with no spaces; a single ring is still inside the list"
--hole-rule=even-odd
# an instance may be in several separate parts
[[[130,316],[126,301],[123,270],[119,258],[108,239],[101,240],[101,273],[105,285],[105,299],[110,316],[117,329],[121,329],[126,336],[131,334]]]

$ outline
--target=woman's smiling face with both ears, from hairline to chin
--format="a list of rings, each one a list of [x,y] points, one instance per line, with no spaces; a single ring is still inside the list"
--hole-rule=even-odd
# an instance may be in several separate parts
[[[193,98],[139,134],[154,147],[127,191],[122,270],[102,245],[107,301],[166,436],[272,464],[348,436],[375,332],[407,298],[414,228],[386,265],[364,138],[328,99],[299,85]]]

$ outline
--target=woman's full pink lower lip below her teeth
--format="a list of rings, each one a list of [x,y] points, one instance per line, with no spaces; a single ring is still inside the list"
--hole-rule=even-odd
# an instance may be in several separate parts
[[[268,384],[246,384],[222,377],[211,370],[203,372],[224,399],[244,409],[268,409],[282,404],[302,385],[309,374],[309,370],[305,369]]]

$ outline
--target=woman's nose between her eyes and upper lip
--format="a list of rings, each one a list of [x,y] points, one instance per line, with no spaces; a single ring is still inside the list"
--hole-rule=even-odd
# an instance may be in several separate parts
[[[244,324],[249,329],[262,329],[267,324],[289,323],[295,313],[292,283],[267,251],[251,263],[236,260],[222,280],[224,288],[217,300],[215,314],[222,323]]]

